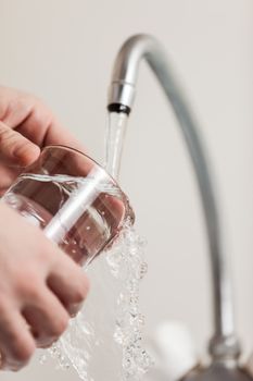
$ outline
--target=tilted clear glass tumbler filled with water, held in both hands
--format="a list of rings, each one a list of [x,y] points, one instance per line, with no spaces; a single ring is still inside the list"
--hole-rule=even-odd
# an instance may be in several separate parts
[[[91,158],[48,146],[2,197],[40,226],[76,262],[87,266],[134,222],[128,198]]]

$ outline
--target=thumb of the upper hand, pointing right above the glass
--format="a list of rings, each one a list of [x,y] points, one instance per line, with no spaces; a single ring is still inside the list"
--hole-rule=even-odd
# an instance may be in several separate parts
[[[40,153],[40,148],[15,130],[0,122],[0,158],[7,164],[28,165]]]

